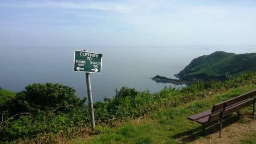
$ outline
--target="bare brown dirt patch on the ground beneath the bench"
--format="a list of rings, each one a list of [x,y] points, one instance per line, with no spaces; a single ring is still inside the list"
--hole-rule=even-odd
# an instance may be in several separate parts
[[[239,140],[253,131],[256,131],[256,120],[253,121],[248,118],[248,115],[243,115],[241,120],[222,129],[222,138],[219,138],[219,131],[217,131],[191,143],[239,143]]]

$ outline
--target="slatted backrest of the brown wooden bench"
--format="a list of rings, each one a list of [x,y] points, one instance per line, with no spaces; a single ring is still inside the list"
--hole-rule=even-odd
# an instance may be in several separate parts
[[[217,111],[220,111],[222,109],[224,109],[225,103],[227,102],[227,106],[226,107],[230,107],[236,103],[239,103],[241,101],[244,101],[245,99],[249,99],[249,98],[253,98],[256,95],[256,90],[250,91],[248,93],[239,95],[238,97],[234,97],[231,98],[227,101],[218,103],[216,105],[213,106],[213,109],[211,109],[211,113],[215,113]]]

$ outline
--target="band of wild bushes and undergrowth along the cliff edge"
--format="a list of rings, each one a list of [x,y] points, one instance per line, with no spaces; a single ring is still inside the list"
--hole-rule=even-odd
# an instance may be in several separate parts
[[[94,104],[95,121],[97,125],[111,127],[124,119],[140,118],[164,107],[176,107],[250,83],[256,84],[256,73],[230,77],[225,82],[198,81],[181,89],[165,87],[155,94],[122,87],[113,99],[105,98],[104,102]],[[24,138],[54,141],[55,135],[69,139],[88,133],[89,110],[85,99],[79,99],[74,92],[73,88],[58,83],[33,84],[16,97],[1,102],[0,141]]]

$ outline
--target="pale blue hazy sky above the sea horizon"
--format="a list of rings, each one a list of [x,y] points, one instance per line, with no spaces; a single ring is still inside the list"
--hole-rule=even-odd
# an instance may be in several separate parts
[[[256,1],[0,0],[0,48],[87,45],[256,45]]]

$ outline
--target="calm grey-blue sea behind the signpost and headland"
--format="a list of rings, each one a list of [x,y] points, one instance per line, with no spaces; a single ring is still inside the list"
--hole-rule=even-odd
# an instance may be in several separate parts
[[[79,97],[87,97],[84,73],[73,71],[74,50],[82,48],[0,48],[0,86],[22,91],[31,83],[62,83],[74,87]],[[157,92],[170,83],[149,79],[159,74],[169,78],[190,61],[214,51],[256,53],[256,46],[137,46],[87,47],[103,54],[102,73],[91,74],[93,99],[113,97],[115,89],[134,87]]]

